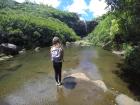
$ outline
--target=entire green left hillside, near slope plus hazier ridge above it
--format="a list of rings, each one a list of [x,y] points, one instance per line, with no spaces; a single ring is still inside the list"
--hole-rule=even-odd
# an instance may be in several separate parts
[[[79,39],[72,28],[55,18],[59,16],[74,19],[78,18],[76,14],[62,12],[44,5],[11,3],[11,0],[2,1],[3,5],[0,6],[1,43],[10,42],[31,48],[50,45],[53,36],[59,36],[63,42]]]

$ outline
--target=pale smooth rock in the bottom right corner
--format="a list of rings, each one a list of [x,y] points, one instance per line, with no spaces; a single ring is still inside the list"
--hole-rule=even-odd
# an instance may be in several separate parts
[[[140,102],[137,102],[124,94],[118,95],[115,101],[118,105],[140,105]]]

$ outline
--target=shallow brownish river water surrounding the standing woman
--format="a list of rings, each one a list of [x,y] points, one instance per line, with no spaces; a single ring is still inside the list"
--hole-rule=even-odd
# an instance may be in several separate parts
[[[91,80],[103,80],[110,90],[133,97],[114,73],[121,59],[99,48],[65,48],[63,72],[85,73]],[[48,48],[0,62],[0,105],[114,105],[114,96],[94,84],[66,78],[57,88]]]

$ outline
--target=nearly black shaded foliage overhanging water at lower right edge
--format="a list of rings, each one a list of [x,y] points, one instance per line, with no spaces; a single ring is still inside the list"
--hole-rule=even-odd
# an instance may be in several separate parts
[[[135,47],[126,56],[124,64],[121,65],[121,77],[129,85],[129,88],[140,99],[140,47]]]

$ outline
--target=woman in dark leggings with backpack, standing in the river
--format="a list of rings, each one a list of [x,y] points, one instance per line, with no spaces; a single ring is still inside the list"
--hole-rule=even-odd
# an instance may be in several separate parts
[[[61,41],[58,37],[53,38],[50,53],[51,53],[51,59],[53,62],[53,68],[55,72],[56,85],[60,86],[62,85],[61,69],[62,69],[64,50]]]

